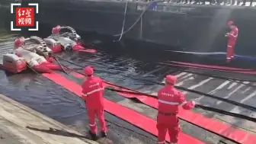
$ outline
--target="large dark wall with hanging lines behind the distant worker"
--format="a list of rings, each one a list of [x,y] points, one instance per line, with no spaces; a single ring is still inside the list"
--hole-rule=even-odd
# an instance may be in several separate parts
[[[24,0],[23,3],[31,0]],[[32,2],[32,1],[31,1]],[[69,25],[77,30],[107,36],[121,33],[126,2],[85,0],[33,0],[40,5],[40,24]],[[129,2],[124,30],[129,29],[148,3]],[[199,53],[226,52],[228,21],[235,21],[239,34],[235,53],[256,56],[254,42],[256,9],[210,5],[158,4],[149,10],[126,34],[123,40],[158,43],[157,49]],[[118,40],[120,36],[114,37]]]

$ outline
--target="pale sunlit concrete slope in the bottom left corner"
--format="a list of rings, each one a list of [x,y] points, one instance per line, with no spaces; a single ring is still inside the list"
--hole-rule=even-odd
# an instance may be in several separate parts
[[[16,141],[19,141],[18,143],[98,144],[98,142],[84,138],[83,136],[85,136],[85,134],[78,133],[69,126],[59,123],[50,117],[46,117],[36,110],[24,104],[20,104],[3,94],[0,94],[0,123],[2,125],[0,131],[12,135],[9,136],[11,137],[9,139],[16,139]],[[50,128],[53,132],[44,132],[50,130]],[[55,132],[57,131],[55,130],[59,130],[61,134],[56,134]],[[10,133],[13,131],[17,133]],[[2,139],[5,139],[5,137],[1,136],[0,143],[2,143]],[[17,142],[8,142],[8,144],[9,143]]]

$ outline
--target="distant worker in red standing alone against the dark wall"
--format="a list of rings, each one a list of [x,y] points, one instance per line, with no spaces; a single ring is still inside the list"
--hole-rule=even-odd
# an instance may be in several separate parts
[[[238,27],[234,25],[233,21],[228,22],[228,26],[231,31],[226,34],[225,37],[229,37],[228,46],[227,46],[227,54],[226,54],[226,62],[231,62],[231,59],[235,56],[235,42],[238,37]]]

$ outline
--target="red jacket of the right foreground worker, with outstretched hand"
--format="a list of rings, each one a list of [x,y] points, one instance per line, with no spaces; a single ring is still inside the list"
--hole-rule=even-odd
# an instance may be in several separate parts
[[[167,85],[158,91],[159,112],[178,114],[178,106],[182,106],[185,110],[190,110],[194,107],[194,103],[192,101],[187,102],[184,94],[171,85]]]

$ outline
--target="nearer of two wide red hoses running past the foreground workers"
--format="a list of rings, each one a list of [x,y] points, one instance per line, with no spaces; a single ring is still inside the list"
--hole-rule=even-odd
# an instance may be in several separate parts
[[[81,97],[81,94],[82,94],[81,85],[78,85],[75,82],[72,82],[71,80],[68,80],[62,75],[59,75],[56,73],[43,74],[43,76],[45,76],[46,78],[49,78],[51,81],[55,82],[56,84],[61,85],[63,88],[66,88],[67,90]],[[114,103],[112,101],[108,101],[106,98],[104,98],[104,108],[110,114],[120,117],[121,119],[126,120],[127,122],[133,124],[134,126],[138,126],[140,129],[145,130],[146,132],[152,133],[153,135],[157,136],[158,131],[156,129],[155,120],[152,120],[149,117],[143,116],[142,114],[139,114],[134,110],[130,110],[127,107],[123,107],[120,104]],[[180,133],[179,139],[180,139],[179,141],[180,144],[187,144],[188,142],[193,144],[204,143],[184,133]],[[166,140],[169,141],[168,136],[166,137]]]

